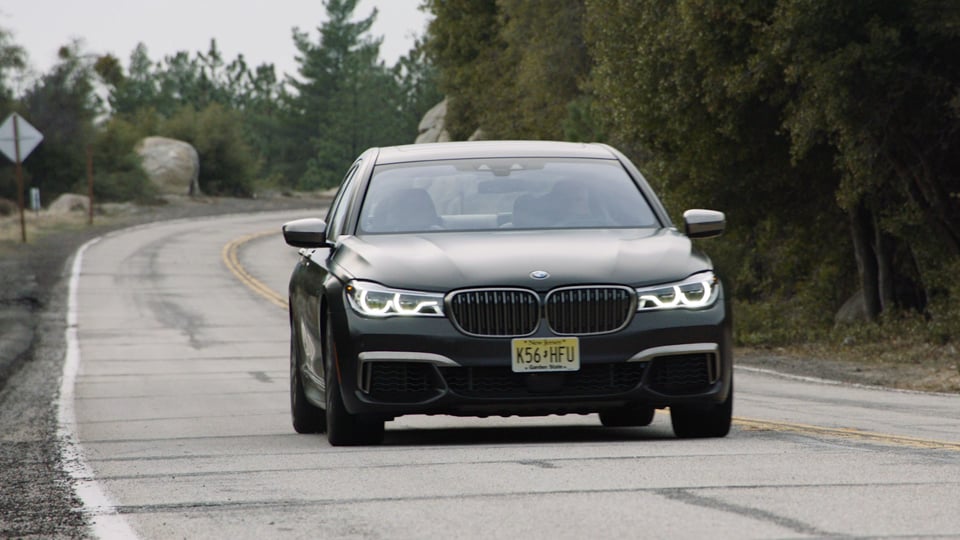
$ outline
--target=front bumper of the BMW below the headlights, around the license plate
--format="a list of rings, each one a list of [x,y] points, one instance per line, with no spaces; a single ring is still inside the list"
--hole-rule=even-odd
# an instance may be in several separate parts
[[[472,337],[446,318],[334,314],[344,404],[353,414],[592,413],[624,405],[720,403],[731,388],[731,322],[703,310],[640,312],[581,336],[578,371],[514,373],[511,338]],[[529,337],[556,337],[545,325]]]

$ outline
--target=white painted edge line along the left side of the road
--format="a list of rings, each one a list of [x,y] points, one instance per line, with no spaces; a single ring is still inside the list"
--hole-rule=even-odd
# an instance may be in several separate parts
[[[60,395],[57,398],[57,438],[60,442],[60,459],[63,470],[73,480],[73,491],[83,504],[82,512],[90,520],[90,532],[95,538],[138,538],[117,512],[106,491],[97,482],[93,469],[87,464],[83,448],[77,437],[77,417],[74,408],[74,387],[80,369],[80,344],[77,341],[77,288],[83,254],[88,247],[100,241],[94,238],[80,246],[73,258],[70,270],[70,288],[67,303],[67,351],[60,380]]]

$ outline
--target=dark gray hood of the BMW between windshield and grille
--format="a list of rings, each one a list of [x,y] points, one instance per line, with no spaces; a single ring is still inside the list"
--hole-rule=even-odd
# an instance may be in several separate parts
[[[712,268],[674,229],[442,232],[342,237],[341,279],[446,292],[469,287],[549,290],[573,284],[644,286]],[[544,271],[545,279],[531,272]]]

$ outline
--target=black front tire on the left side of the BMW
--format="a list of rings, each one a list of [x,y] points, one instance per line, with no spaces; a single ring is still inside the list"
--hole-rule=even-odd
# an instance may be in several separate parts
[[[332,446],[376,445],[383,442],[384,421],[350,414],[343,404],[340,378],[336,367],[336,344],[327,314],[327,333],[324,336],[324,365],[327,382],[327,440]]]

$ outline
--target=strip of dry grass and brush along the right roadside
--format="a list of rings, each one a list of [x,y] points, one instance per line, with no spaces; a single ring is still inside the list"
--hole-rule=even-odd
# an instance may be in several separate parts
[[[960,297],[960,290],[949,298]],[[894,311],[833,324],[789,302],[734,306],[737,361],[789,373],[909,390],[960,393],[960,307]]]

